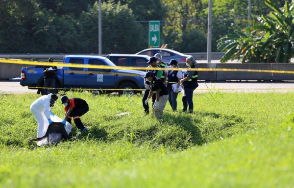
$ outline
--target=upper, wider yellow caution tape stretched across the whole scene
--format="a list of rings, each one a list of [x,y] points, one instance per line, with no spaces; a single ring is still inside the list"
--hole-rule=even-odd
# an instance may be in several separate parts
[[[123,67],[123,66],[103,66],[103,65],[84,65],[84,64],[72,64],[72,63],[50,63],[40,61],[24,61],[24,60],[6,60],[0,59],[0,63],[11,63],[11,64],[25,64],[25,65],[47,65],[56,67],[75,67],[75,68],[91,68],[91,69],[125,69],[125,70],[173,70],[183,71],[187,69],[181,68],[149,68],[149,67]],[[268,73],[287,73],[294,74],[294,71],[274,71],[274,70],[252,70],[252,69],[217,69],[217,68],[193,68],[189,71],[245,71],[245,72],[268,72]]]

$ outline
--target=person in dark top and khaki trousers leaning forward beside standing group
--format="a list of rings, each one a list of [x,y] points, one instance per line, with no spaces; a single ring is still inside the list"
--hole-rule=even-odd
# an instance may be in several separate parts
[[[155,94],[156,100],[152,106],[152,112],[155,118],[161,119],[164,107],[166,106],[169,99],[168,90],[163,84],[163,81],[160,78],[154,76],[153,72],[147,72],[144,78],[149,80],[150,83],[150,92],[147,100],[145,101],[145,104],[147,104],[148,100],[152,97],[153,94]]]

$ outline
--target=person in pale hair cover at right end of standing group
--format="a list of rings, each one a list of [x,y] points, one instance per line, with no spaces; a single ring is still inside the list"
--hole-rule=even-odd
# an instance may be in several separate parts
[[[198,87],[197,77],[198,71],[189,71],[189,69],[195,69],[196,61],[193,56],[186,58],[186,65],[188,70],[184,72],[184,78],[181,79],[181,84],[184,88],[183,101],[183,112],[187,111],[189,104],[189,113],[193,113],[193,92]]]

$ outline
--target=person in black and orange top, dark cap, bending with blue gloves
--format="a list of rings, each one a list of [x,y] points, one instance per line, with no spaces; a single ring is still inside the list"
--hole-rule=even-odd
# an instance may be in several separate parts
[[[66,121],[72,124],[72,118],[75,126],[82,132],[88,130],[82,123],[80,117],[89,111],[89,105],[81,98],[68,98],[66,95],[61,97],[61,104],[64,104],[65,116],[62,124],[66,124]]]

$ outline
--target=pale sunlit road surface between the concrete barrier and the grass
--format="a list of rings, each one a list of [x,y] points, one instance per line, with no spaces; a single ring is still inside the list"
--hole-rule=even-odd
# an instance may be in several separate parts
[[[199,87],[194,93],[205,92],[253,92],[253,93],[267,93],[267,92],[294,92],[294,82],[217,82],[204,83],[198,82]],[[19,82],[0,81],[0,94],[26,94],[37,93],[37,90],[29,90],[23,87]]]

